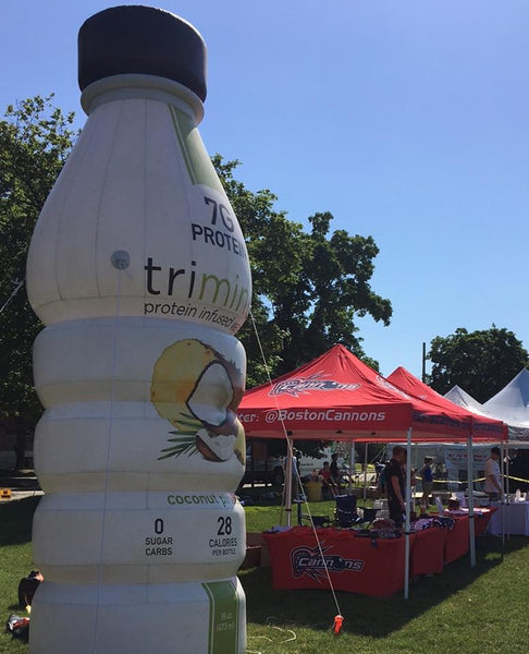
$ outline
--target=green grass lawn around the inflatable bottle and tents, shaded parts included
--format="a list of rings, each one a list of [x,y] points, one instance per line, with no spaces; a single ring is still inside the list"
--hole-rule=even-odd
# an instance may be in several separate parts
[[[30,521],[37,502],[38,498],[30,498],[0,505],[0,606],[4,620],[20,610],[19,580],[33,568]],[[332,506],[319,502],[312,508],[316,514],[325,514]],[[272,501],[247,507],[248,531],[278,524],[280,511]],[[247,597],[247,651],[526,654],[528,545],[528,538],[512,537],[502,552],[501,540],[479,538],[476,568],[470,569],[465,557],[447,566],[442,574],[420,578],[411,585],[408,601],[402,595],[380,600],[339,592],[345,621],[337,638],[330,631],[336,613],[330,592],[273,591],[270,569],[243,571],[239,578]],[[27,645],[1,633],[0,654],[19,652],[27,652]]]

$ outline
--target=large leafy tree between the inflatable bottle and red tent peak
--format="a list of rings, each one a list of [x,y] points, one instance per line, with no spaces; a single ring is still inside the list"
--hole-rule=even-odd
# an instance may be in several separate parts
[[[273,209],[268,190],[251,193],[236,181],[237,161],[213,165],[245,234],[254,280],[254,318],[261,340],[273,353],[271,372],[282,374],[322,354],[335,343],[366,360],[355,324],[371,315],[387,325],[389,300],[377,295],[369,280],[379,250],[371,237],[330,233],[330,213],[309,218],[311,231]],[[262,338],[263,337],[263,338]],[[251,322],[239,332],[251,362],[260,361]],[[377,362],[367,361],[378,367]],[[254,368],[249,385],[266,379]]]

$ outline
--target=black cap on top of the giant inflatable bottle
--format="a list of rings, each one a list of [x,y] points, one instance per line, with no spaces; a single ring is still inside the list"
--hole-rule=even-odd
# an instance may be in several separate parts
[[[112,7],[85,21],[77,40],[81,90],[103,77],[139,73],[180,82],[206,99],[206,44],[168,11]]]

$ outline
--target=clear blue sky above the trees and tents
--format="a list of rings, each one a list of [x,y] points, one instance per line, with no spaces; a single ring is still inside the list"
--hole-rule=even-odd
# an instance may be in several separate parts
[[[128,2],[134,4],[135,2]],[[76,38],[102,0],[0,2],[0,108],[79,107]],[[372,235],[390,327],[359,322],[389,375],[421,343],[506,327],[529,348],[529,3],[165,0],[208,45],[200,132],[307,225]]]

